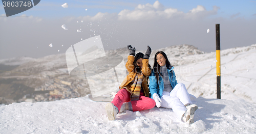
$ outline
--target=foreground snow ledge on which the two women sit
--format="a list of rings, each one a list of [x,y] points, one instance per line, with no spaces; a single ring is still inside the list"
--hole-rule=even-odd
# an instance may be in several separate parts
[[[255,133],[256,104],[243,99],[197,98],[195,123],[180,122],[170,109],[118,114],[109,121],[106,102],[86,97],[0,106],[0,133]]]

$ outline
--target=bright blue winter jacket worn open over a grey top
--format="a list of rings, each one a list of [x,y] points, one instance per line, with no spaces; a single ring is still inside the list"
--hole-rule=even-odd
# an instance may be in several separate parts
[[[169,75],[170,85],[174,89],[174,87],[178,84],[176,81],[176,75],[174,73],[174,67],[168,66],[167,71]],[[157,72],[158,73],[158,72]],[[161,72],[160,72],[161,73]],[[159,85],[159,86],[158,86]],[[155,76],[155,72],[152,70],[150,75],[150,97],[153,98],[153,94],[157,93],[158,96],[161,98],[163,94],[163,78],[159,75],[159,81],[157,85],[157,78]]]

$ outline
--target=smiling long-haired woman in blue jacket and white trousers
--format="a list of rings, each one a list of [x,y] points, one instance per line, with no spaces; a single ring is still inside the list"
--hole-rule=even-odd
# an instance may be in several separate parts
[[[194,113],[198,106],[191,102],[185,85],[177,83],[173,69],[166,54],[158,51],[150,75],[151,98],[155,100],[158,108],[173,109],[181,121],[194,123]]]

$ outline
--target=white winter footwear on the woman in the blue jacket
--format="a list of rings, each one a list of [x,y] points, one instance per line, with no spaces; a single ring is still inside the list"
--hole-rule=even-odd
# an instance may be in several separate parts
[[[192,124],[194,123],[194,114],[195,114],[195,111],[198,109],[198,106],[196,104],[190,104],[190,105],[186,105],[186,108],[187,110],[181,117],[181,120],[184,121],[185,123]]]

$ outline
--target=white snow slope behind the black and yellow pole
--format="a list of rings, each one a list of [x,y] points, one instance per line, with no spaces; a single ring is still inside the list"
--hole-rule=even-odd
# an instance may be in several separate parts
[[[256,103],[256,45],[222,50],[221,55],[221,98]],[[216,53],[187,58],[196,62],[175,66],[178,83],[196,97],[216,98]]]

